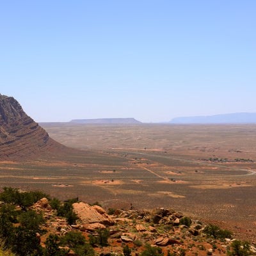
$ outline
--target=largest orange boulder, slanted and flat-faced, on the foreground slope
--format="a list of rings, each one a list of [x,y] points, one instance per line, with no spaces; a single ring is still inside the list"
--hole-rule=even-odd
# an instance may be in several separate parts
[[[109,226],[115,224],[115,221],[101,207],[95,206],[90,206],[83,202],[74,203],[73,211],[77,214],[83,225],[101,223]]]

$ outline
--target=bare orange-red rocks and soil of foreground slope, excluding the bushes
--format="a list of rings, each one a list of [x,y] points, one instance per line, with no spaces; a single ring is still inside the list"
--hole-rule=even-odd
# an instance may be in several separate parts
[[[92,206],[84,202],[73,204],[73,208],[79,217],[76,225],[68,225],[65,218],[56,216],[56,211],[51,209],[46,198],[33,206],[36,212],[43,212],[47,220],[42,227],[45,229],[45,234],[40,237],[42,246],[49,234],[63,237],[69,232],[80,232],[89,243],[92,241],[90,236],[99,236],[99,230],[108,230],[108,243],[104,246],[93,245],[95,255],[100,256],[124,255],[125,246],[131,250],[131,256],[139,256],[146,250],[147,244],[161,248],[163,256],[226,255],[228,250],[232,251],[232,242],[235,241],[234,236],[224,230],[220,237],[216,235],[218,234],[216,230],[212,233],[216,237],[211,236],[211,232],[207,233],[205,230],[214,226],[191,220],[173,209],[161,208],[152,211],[111,209],[109,215],[99,205]],[[75,246],[66,249],[69,251],[67,255],[83,255],[74,252]],[[255,243],[250,244],[250,250],[251,255],[255,255]]]

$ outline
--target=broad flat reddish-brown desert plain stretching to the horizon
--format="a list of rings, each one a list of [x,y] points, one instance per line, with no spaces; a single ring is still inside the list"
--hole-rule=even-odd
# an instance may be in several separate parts
[[[40,125],[77,150],[1,161],[1,188],[106,209],[172,208],[255,241],[256,125]]]

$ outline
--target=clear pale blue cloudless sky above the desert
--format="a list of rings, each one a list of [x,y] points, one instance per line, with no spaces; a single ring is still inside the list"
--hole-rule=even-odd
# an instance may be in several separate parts
[[[0,0],[0,93],[36,122],[256,112],[255,0]]]

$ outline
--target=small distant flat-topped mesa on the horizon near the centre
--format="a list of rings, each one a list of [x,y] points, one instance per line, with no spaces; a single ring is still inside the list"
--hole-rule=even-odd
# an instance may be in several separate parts
[[[134,118],[98,118],[98,119],[74,119],[72,124],[141,124]]]

